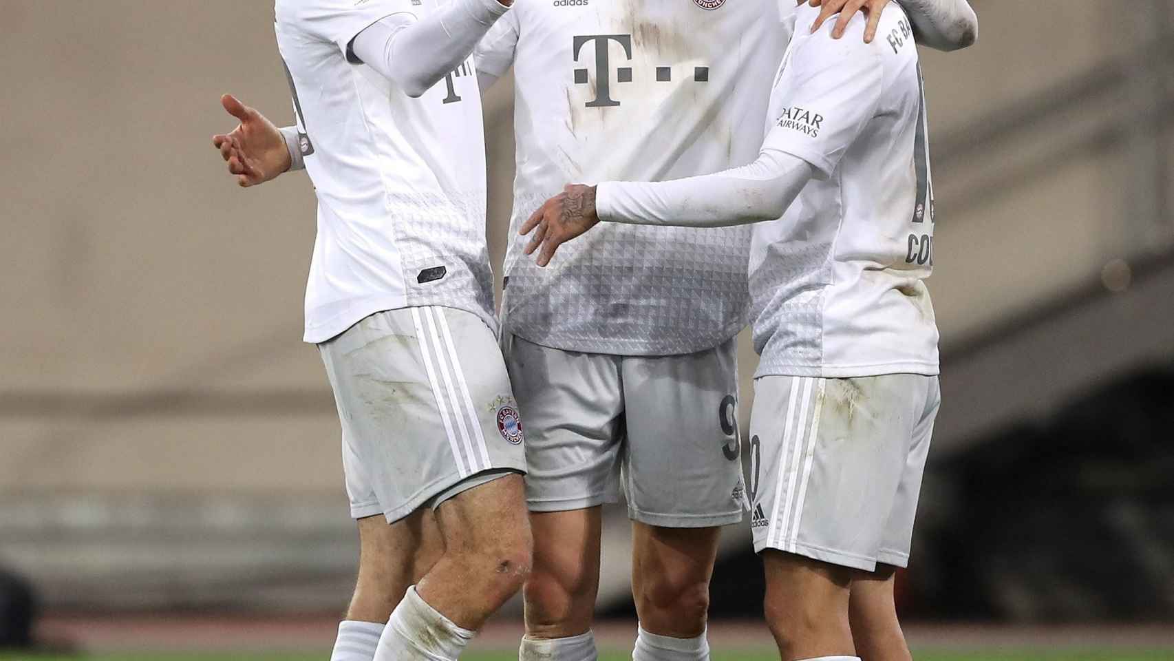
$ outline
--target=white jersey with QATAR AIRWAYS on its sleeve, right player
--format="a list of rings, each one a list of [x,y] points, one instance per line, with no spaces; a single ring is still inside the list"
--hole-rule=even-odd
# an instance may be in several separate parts
[[[938,373],[923,282],[933,268],[925,96],[910,22],[896,4],[877,39],[855,16],[841,40],[811,34],[803,6],[770,99],[764,149],[817,170],[787,214],[755,225],[750,251],[758,376]]]

